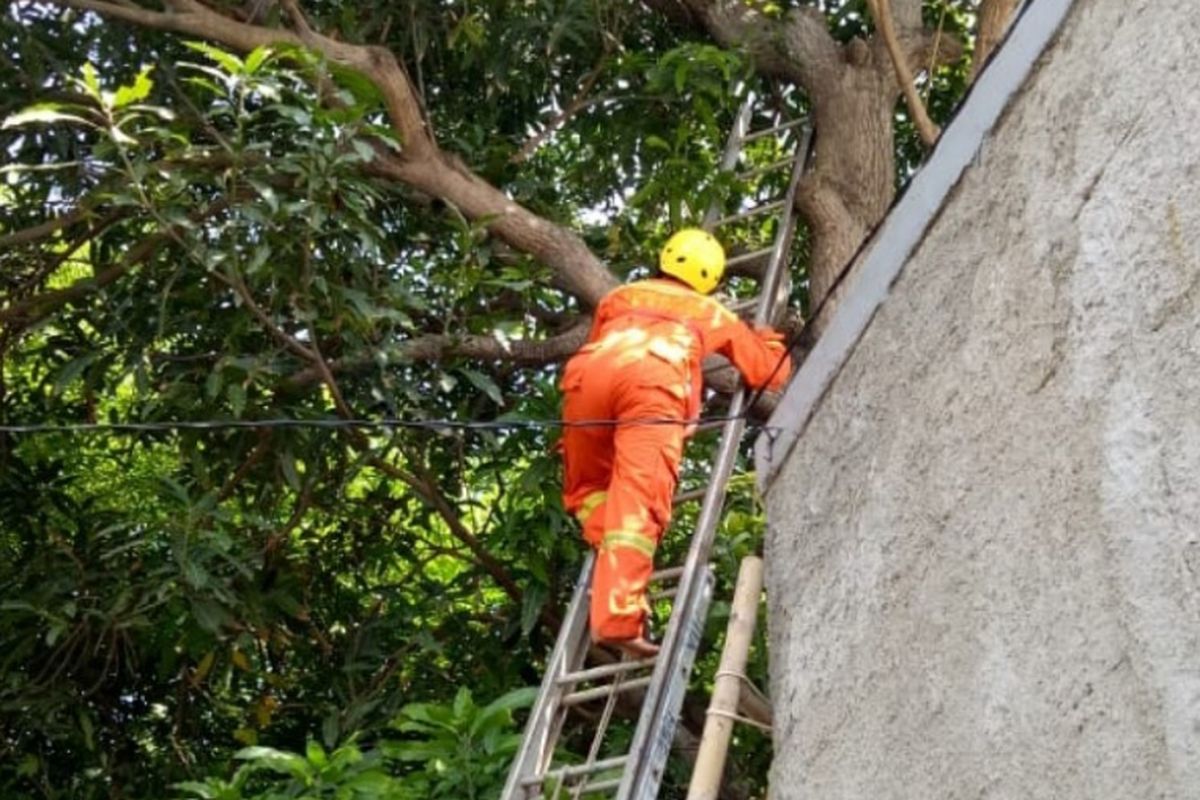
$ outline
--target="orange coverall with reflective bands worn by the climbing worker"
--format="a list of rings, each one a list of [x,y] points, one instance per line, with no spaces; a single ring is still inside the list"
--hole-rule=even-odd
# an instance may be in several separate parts
[[[642,634],[654,551],[671,519],[684,437],[700,411],[701,361],[720,353],[755,389],[791,373],[782,337],[755,331],[719,301],[667,278],[610,291],[587,343],[566,362],[563,504],[596,551],[590,626],[596,639]],[[780,363],[782,361],[784,363]],[[776,369],[778,367],[778,369]],[[774,373],[774,374],[772,374]]]

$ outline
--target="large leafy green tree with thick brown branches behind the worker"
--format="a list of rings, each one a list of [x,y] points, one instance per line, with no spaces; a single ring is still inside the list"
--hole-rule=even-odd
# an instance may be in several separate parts
[[[0,438],[0,780],[161,796],[535,682],[578,560],[552,429],[262,422],[553,420],[602,293],[773,191],[714,176],[748,85],[816,120],[818,303],[920,150],[862,4],[793,5],[12,5],[0,419],[162,427]],[[961,49],[965,6],[894,8],[913,70]]]

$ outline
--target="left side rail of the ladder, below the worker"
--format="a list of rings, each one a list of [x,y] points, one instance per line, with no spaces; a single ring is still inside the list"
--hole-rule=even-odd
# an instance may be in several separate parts
[[[560,696],[570,688],[569,686],[559,686],[558,679],[570,669],[568,660],[571,645],[580,638],[587,625],[588,589],[592,583],[594,559],[595,555],[590,551],[583,559],[583,567],[580,570],[580,579],[575,584],[566,618],[559,631],[558,640],[554,642],[554,649],[546,661],[541,688],[538,691],[538,699],[534,702],[529,721],[526,722],[526,729],[521,736],[521,748],[517,751],[516,758],[512,759],[512,766],[509,768],[509,777],[505,781],[504,792],[500,794],[502,800],[526,800],[530,796],[523,780],[542,771],[548,765],[548,762],[542,763],[547,757],[545,752],[547,744],[551,750],[550,754],[553,754],[554,742],[552,740],[557,738],[552,735],[557,728],[553,717],[559,710]]]

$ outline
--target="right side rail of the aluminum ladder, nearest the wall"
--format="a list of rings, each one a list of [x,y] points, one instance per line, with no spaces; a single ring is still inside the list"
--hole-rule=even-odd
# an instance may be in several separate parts
[[[808,137],[804,138],[804,144],[806,150]],[[775,305],[774,293],[779,287],[780,272],[785,266],[786,253],[791,245],[796,191],[799,178],[804,172],[804,164],[808,161],[805,157],[806,152],[800,152],[798,156],[786,192],[787,205],[784,206],[782,224],[775,231],[770,261],[763,276],[758,307],[755,312],[755,323],[760,325],[766,324]],[[700,567],[708,563],[713,540],[716,534],[716,523],[725,506],[728,479],[737,462],[742,434],[745,432],[745,420],[742,419],[742,413],[746,399],[746,392],[742,390],[734,392],[733,399],[730,403],[727,414],[731,419],[724,426],[725,431],[721,434],[716,463],[713,467],[713,474],[704,493],[704,503],[701,506],[700,518],[696,522],[696,531],[692,534],[688,558],[684,561],[683,577],[679,581],[678,594],[676,596],[674,613],[672,613],[671,622],[667,625],[662,649],[659,652],[659,663],[654,668],[654,678],[643,700],[642,714],[630,746],[629,752],[632,769],[626,769],[623,776],[620,789],[617,793],[618,800],[647,800],[653,799],[658,794],[659,782],[661,781],[661,765],[655,763],[658,759],[644,758],[643,754],[649,754],[648,748],[652,744],[668,739],[668,735],[664,735],[664,727],[668,726],[673,732],[674,720],[672,717],[678,714],[678,710],[671,709],[671,703],[667,698],[670,692],[664,690],[670,688],[671,673],[677,669],[677,663],[685,652],[685,648],[682,646],[683,637],[680,636],[680,630],[685,622],[686,614],[680,612],[688,612],[698,604],[698,595],[703,594],[702,587],[697,585],[698,583],[710,585],[707,567],[703,572],[701,572]],[[707,608],[707,602],[703,604]],[[698,608],[695,610],[700,612]],[[703,620],[701,620],[701,625],[702,622]],[[688,670],[690,672],[690,663],[688,663]],[[678,699],[682,702],[683,691],[680,690],[678,694]]]

